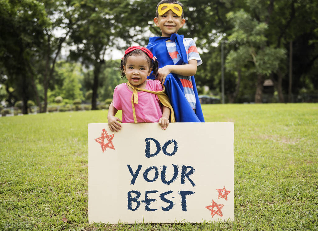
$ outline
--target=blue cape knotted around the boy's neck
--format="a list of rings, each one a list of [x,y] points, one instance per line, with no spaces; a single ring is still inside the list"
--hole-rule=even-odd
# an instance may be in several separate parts
[[[181,56],[181,59],[176,64],[173,63],[168,53],[166,46],[167,40],[176,42],[177,51]],[[187,54],[183,45],[183,35],[172,34],[171,37],[150,37],[147,48],[156,56],[159,68],[166,65],[182,65],[183,63],[188,63]],[[148,78],[153,79],[155,76],[150,74]],[[176,122],[204,122],[194,76],[191,76],[191,82],[196,97],[196,112],[193,111],[188,100],[185,98],[182,83],[176,74],[170,73],[167,75],[163,84],[175,112]]]

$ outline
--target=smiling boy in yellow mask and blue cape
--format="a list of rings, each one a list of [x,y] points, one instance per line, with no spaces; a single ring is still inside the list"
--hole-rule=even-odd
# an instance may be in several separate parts
[[[159,61],[157,79],[165,86],[176,122],[204,122],[194,80],[202,61],[193,39],[177,34],[185,23],[183,5],[176,0],[162,0],[154,23],[161,37],[150,37],[147,48]]]

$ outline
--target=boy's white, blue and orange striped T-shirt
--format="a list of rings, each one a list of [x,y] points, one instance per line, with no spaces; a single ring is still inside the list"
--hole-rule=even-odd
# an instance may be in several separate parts
[[[199,52],[197,51],[197,46],[195,42],[193,41],[193,39],[184,38],[183,44],[187,52],[188,61],[190,61],[191,59],[195,59],[197,60],[197,65],[201,65],[202,60],[200,58]],[[167,45],[167,50],[169,52],[169,55],[173,60],[173,63],[176,64],[181,59],[176,48],[176,43],[174,41],[171,41],[171,42],[166,42],[166,45]],[[177,76],[183,85],[185,98],[188,100],[191,107],[193,109],[196,109],[196,97],[193,91],[191,76],[182,76],[182,75],[177,75]]]

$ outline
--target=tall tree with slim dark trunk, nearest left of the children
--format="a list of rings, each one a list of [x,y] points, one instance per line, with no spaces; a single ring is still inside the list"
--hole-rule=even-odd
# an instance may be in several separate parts
[[[127,12],[130,9],[129,1],[87,0],[85,3],[81,14],[84,15],[82,17],[88,17],[79,24],[71,36],[71,44],[76,45],[76,50],[72,50],[70,56],[75,60],[80,59],[87,67],[93,67],[92,110],[95,110],[105,54],[114,45],[120,47],[116,38],[120,37],[127,41],[131,37],[129,35],[131,28],[127,27],[130,16]]]

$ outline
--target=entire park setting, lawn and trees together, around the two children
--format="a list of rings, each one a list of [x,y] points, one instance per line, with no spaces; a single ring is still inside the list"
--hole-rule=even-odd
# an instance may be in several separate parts
[[[29,114],[0,118],[0,230],[318,230],[317,1],[182,3],[200,95],[222,102],[224,76],[202,108],[234,122],[235,221],[88,224],[87,124],[123,51],[160,36],[157,2],[0,0],[1,113]]]

